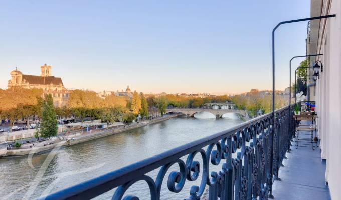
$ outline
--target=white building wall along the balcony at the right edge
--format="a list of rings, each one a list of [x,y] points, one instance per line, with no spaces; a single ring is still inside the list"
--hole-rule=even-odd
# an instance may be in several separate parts
[[[336,17],[311,21],[308,29],[307,54],[323,54],[311,57],[310,66],[319,60],[323,71],[316,82],[308,83],[307,95],[316,101],[316,126],[331,199],[341,199],[341,1],[311,0],[311,17],[330,14]]]

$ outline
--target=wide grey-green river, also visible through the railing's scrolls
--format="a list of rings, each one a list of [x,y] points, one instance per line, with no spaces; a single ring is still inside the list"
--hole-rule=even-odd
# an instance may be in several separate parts
[[[199,113],[196,117],[206,119],[177,117],[62,147],[55,154],[37,154],[32,160],[27,156],[2,158],[0,198],[36,199],[243,122],[236,117],[207,119],[209,116],[209,113]],[[186,161],[186,157],[183,159]],[[173,168],[177,170],[179,167],[174,165],[171,169]],[[211,169],[210,166],[210,171]],[[200,178],[195,182],[186,181],[184,189],[176,194],[167,189],[166,181],[170,171],[172,170],[168,171],[162,184],[161,199],[188,197],[191,186],[198,185]],[[147,175],[155,179],[157,172],[155,170]],[[111,190],[96,199],[110,199],[113,193],[114,190]],[[137,182],[126,193],[138,193],[140,199],[150,199],[144,182]]]

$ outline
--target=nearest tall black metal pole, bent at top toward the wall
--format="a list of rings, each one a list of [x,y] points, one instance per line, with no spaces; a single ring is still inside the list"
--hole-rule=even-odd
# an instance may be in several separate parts
[[[286,23],[295,23],[295,22],[301,22],[301,21],[309,21],[309,20],[315,20],[315,19],[322,19],[322,18],[330,18],[330,17],[335,17],[336,14],[332,14],[332,15],[326,15],[326,16],[317,16],[317,17],[310,17],[310,18],[303,18],[303,19],[296,19],[296,20],[291,20],[291,21],[282,21],[280,23],[278,23],[272,30],[272,118],[273,118],[273,129],[274,129],[274,124],[275,124],[275,31],[276,29],[282,25],[282,24],[286,24]],[[273,142],[272,142],[272,150],[273,150]],[[273,153],[271,153],[271,160],[273,160]],[[273,174],[273,170],[272,170],[272,166],[271,166],[271,182],[272,182],[272,174]],[[270,194],[269,197],[273,197],[272,196],[272,188],[270,185]]]

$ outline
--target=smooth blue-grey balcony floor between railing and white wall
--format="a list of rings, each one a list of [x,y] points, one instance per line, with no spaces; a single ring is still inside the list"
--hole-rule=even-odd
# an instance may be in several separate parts
[[[320,148],[298,147],[292,142],[292,151],[286,153],[280,167],[280,181],[273,184],[275,199],[330,199],[329,188],[325,184],[325,160],[321,160]]]

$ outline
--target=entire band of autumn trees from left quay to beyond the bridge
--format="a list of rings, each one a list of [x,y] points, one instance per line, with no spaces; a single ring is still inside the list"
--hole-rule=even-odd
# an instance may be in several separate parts
[[[29,127],[29,118],[42,117],[46,96],[41,89],[11,88],[0,89],[0,118],[8,119],[11,126],[17,120],[23,119]],[[68,105],[54,108],[57,118],[75,116],[83,122],[86,117],[101,119],[107,126],[115,121],[130,123],[137,116],[148,117],[151,112],[159,112],[162,116],[167,107],[198,108],[205,103],[223,103],[232,101],[238,109],[248,110],[251,116],[270,112],[271,96],[262,96],[258,90],[249,92],[248,95],[235,95],[229,97],[216,96],[206,98],[185,97],[167,94],[163,96],[148,96],[133,92],[132,97],[109,95],[104,99],[97,96],[96,92],[88,90],[71,90]],[[52,101],[53,104],[53,101]],[[276,108],[284,106],[284,100],[276,99]]]

